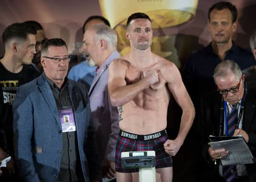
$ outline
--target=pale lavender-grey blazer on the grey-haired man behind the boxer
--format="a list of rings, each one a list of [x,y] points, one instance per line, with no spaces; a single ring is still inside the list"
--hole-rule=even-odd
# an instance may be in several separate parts
[[[114,51],[99,68],[90,87],[90,107],[92,123],[96,128],[96,141],[101,159],[115,161],[116,141],[119,133],[119,115],[116,107],[111,105],[108,94],[108,66],[119,58]]]

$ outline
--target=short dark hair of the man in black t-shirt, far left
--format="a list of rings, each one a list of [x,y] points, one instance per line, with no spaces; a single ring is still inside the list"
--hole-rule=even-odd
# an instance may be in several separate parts
[[[12,39],[20,39],[26,41],[29,34],[36,34],[36,31],[33,27],[26,26],[25,23],[13,23],[7,26],[3,31],[2,40],[4,44]]]

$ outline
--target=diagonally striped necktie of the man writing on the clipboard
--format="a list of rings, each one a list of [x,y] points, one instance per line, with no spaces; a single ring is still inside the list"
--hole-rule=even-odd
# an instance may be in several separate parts
[[[227,118],[228,136],[233,136],[234,134],[234,131],[236,129],[237,117],[238,117],[238,113],[237,113],[236,105],[233,105],[230,111],[230,115]],[[236,165],[223,166],[222,176],[226,179],[227,182],[232,182],[237,176]]]

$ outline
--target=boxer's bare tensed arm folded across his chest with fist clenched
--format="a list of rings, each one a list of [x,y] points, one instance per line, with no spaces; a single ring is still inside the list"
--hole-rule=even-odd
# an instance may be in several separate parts
[[[134,84],[126,84],[125,75],[129,63],[124,60],[115,60],[109,66],[108,91],[111,104],[119,107],[131,101],[141,91],[148,88],[151,84],[158,82],[157,72],[146,75]]]

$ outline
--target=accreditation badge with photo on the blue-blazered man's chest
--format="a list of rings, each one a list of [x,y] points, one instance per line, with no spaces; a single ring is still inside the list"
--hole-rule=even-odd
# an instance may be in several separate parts
[[[76,124],[73,114],[73,109],[62,109],[58,110],[62,132],[76,131]]]

